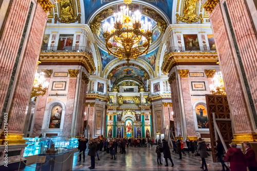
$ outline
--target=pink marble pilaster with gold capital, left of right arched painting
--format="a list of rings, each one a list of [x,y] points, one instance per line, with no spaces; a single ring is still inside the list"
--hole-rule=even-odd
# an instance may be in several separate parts
[[[185,116],[186,120],[186,131],[185,131],[185,137],[196,137],[195,135],[195,124],[194,124],[194,116],[192,111],[192,102],[190,97],[190,89],[189,89],[189,81],[188,81],[188,74],[189,70],[178,70],[178,73],[180,75],[180,81],[181,81],[181,90],[182,90],[182,113],[184,113],[183,116]]]

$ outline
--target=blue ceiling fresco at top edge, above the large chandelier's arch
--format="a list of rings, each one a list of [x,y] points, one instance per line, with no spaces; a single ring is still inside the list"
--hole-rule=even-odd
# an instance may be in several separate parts
[[[85,6],[85,19],[86,21],[90,17],[92,13],[94,13],[98,8],[100,8],[103,5],[106,5],[108,3],[113,3],[117,0],[84,0],[84,6]],[[141,0],[147,3],[150,3],[159,9],[161,9],[171,20],[172,15],[172,4],[173,0]],[[133,4],[134,1],[132,1]],[[136,3],[136,2],[134,2]]]

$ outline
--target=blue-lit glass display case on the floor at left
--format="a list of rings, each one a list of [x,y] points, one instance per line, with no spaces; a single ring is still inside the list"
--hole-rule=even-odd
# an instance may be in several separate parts
[[[34,156],[39,154],[63,153],[68,149],[77,148],[79,145],[78,138],[51,137],[51,138],[24,138],[24,139],[26,139],[26,144],[28,144],[28,146],[25,147],[24,149],[23,157]]]

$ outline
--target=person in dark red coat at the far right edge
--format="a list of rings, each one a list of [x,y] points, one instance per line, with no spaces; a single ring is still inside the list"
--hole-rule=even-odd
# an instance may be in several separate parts
[[[245,159],[246,165],[249,168],[249,171],[256,171],[257,170],[257,162],[255,159],[255,152],[252,149],[252,145],[249,142],[244,142],[245,147]]]

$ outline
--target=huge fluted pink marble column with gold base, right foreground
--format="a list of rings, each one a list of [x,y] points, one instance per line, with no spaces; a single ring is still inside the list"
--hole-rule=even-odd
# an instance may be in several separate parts
[[[244,0],[221,0],[210,14],[235,141],[257,140],[257,40],[252,19]]]

